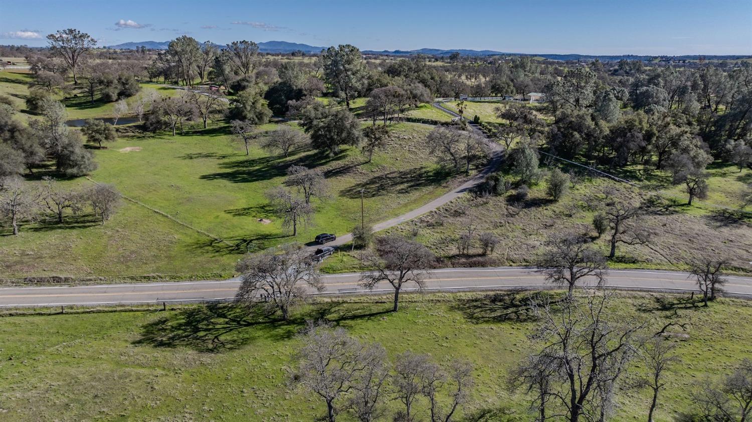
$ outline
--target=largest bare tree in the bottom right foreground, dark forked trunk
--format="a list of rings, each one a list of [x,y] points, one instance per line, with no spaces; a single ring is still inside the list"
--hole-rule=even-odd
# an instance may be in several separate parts
[[[534,406],[544,418],[578,422],[608,416],[614,388],[635,355],[635,335],[642,328],[635,321],[606,319],[608,298],[566,296],[557,311],[550,302],[533,304],[541,323],[531,339],[540,348],[519,366],[511,382],[536,391]]]

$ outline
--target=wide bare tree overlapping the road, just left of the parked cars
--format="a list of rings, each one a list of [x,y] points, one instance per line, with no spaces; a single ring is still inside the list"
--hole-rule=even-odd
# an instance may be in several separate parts
[[[311,254],[302,247],[286,246],[281,254],[274,251],[251,254],[235,268],[241,273],[235,300],[253,303],[259,295],[264,295],[266,303],[280,311],[284,320],[289,320],[292,308],[305,299],[306,286],[317,291],[324,289]]]

